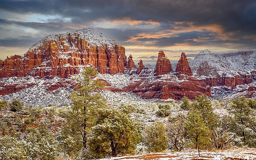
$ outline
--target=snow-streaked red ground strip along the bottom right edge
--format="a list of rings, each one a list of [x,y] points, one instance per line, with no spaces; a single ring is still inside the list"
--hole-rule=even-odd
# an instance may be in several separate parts
[[[241,158],[241,159],[240,159]],[[124,156],[124,157],[113,157],[104,158],[101,160],[114,160],[114,159],[138,159],[138,160],[198,160],[198,159],[209,159],[209,160],[254,160],[256,159],[255,150],[248,152],[201,152],[200,158],[198,157],[198,152],[174,152],[174,153],[149,153],[145,155],[134,155],[134,156]]]

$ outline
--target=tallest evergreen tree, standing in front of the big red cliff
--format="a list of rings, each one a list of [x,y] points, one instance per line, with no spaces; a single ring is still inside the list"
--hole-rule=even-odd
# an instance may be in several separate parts
[[[98,74],[93,68],[86,68],[76,78],[78,86],[71,93],[73,105],[68,111],[67,123],[63,126],[61,144],[68,153],[87,149],[88,132],[95,125],[97,112],[105,107],[106,100],[97,92],[105,86],[101,80],[94,80]],[[69,148],[71,147],[71,148]]]

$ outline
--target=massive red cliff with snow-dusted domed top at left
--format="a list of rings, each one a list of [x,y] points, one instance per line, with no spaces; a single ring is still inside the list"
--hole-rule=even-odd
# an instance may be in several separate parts
[[[78,74],[81,67],[92,66],[104,73],[123,73],[125,48],[93,29],[45,37],[25,53],[0,61],[0,78],[60,76]]]

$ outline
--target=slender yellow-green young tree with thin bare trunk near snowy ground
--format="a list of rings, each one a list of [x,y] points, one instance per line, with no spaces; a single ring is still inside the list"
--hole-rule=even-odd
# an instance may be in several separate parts
[[[205,124],[201,112],[198,110],[189,112],[185,126],[188,129],[189,138],[195,142],[198,156],[200,157],[199,144],[206,144],[208,142],[207,135],[209,133],[209,128]]]

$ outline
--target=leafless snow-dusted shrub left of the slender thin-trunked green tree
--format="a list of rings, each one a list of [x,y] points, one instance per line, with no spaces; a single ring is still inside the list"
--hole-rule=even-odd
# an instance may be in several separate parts
[[[180,152],[188,139],[187,128],[185,127],[186,115],[179,113],[177,116],[169,117],[169,124],[166,125],[166,137],[175,149]]]

